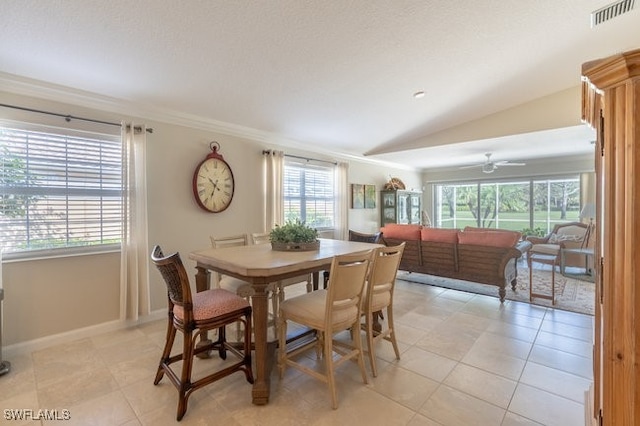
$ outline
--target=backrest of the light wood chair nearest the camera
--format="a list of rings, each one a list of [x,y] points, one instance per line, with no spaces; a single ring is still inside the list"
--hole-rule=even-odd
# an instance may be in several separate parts
[[[370,259],[370,251],[333,258],[325,308],[327,328],[340,329],[360,318],[362,291]]]

